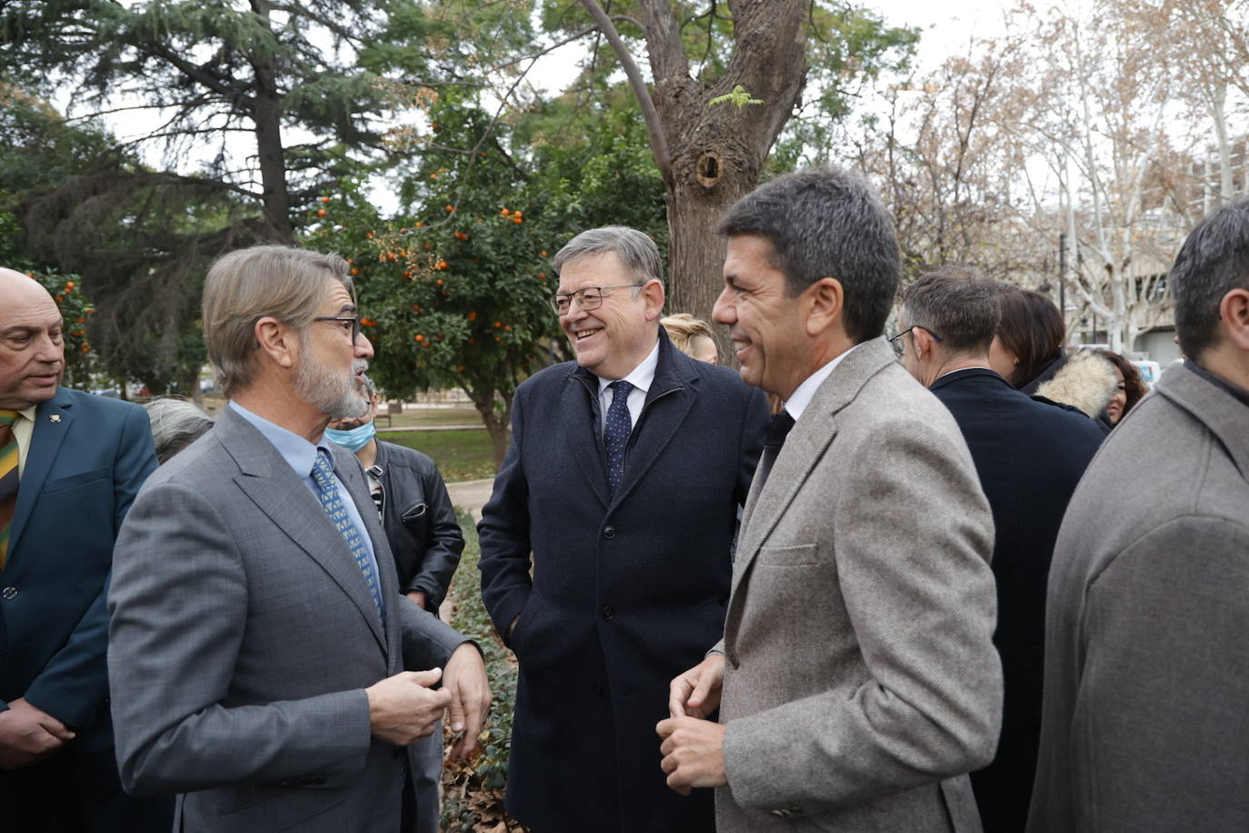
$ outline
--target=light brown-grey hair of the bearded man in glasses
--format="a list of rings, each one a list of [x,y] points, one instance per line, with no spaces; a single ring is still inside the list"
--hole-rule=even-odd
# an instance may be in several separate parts
[[[326,282],[351,292],[347,261],[290,246],[252,246],[224,255],[204,281],[204,343],[226,396],[252,382],[256,321],[272,316],[307,327],[325,302]]]

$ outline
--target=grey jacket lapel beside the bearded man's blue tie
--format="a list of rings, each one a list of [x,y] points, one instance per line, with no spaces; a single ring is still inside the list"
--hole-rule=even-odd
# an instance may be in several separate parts
[[[387,653],[386,636],[365,577],[356,567],[347,542],[309,487],[272,443],[230,407],[221,410],[212,431],[239,466],[240,473],[235,477],[239,488],[342,588],[368,623],[382,653]],[[376,510],[370,511],[376,515]]]

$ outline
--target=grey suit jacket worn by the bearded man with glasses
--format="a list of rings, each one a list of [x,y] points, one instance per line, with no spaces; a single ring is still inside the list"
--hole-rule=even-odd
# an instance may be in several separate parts
[[[331,443],[332,445],[332,443]],[[382,626],[317,498],[230,408],[144,486],[117,537],[109,674],[132,793],[187,793],[186,831],[393,831],[408,751],[363,688],[463,637],[400,596],[356,458],[335,468],[381,569]]]

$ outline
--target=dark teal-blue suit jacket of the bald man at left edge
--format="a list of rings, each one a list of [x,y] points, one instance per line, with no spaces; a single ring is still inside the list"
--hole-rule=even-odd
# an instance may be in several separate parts
[[[112,743],[112,543],[155,468],[140,406],[64,387],[39,406],[0,572],[0,708],[25,697],[76,729],[84,749]]]

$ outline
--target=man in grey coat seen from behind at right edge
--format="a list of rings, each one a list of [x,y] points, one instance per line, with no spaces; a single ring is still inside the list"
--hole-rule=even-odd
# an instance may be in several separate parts
[[[1029,831],[1249,831],[1249,201],[1198,225],[1168,283],[1188,360],[1058,535]]]

